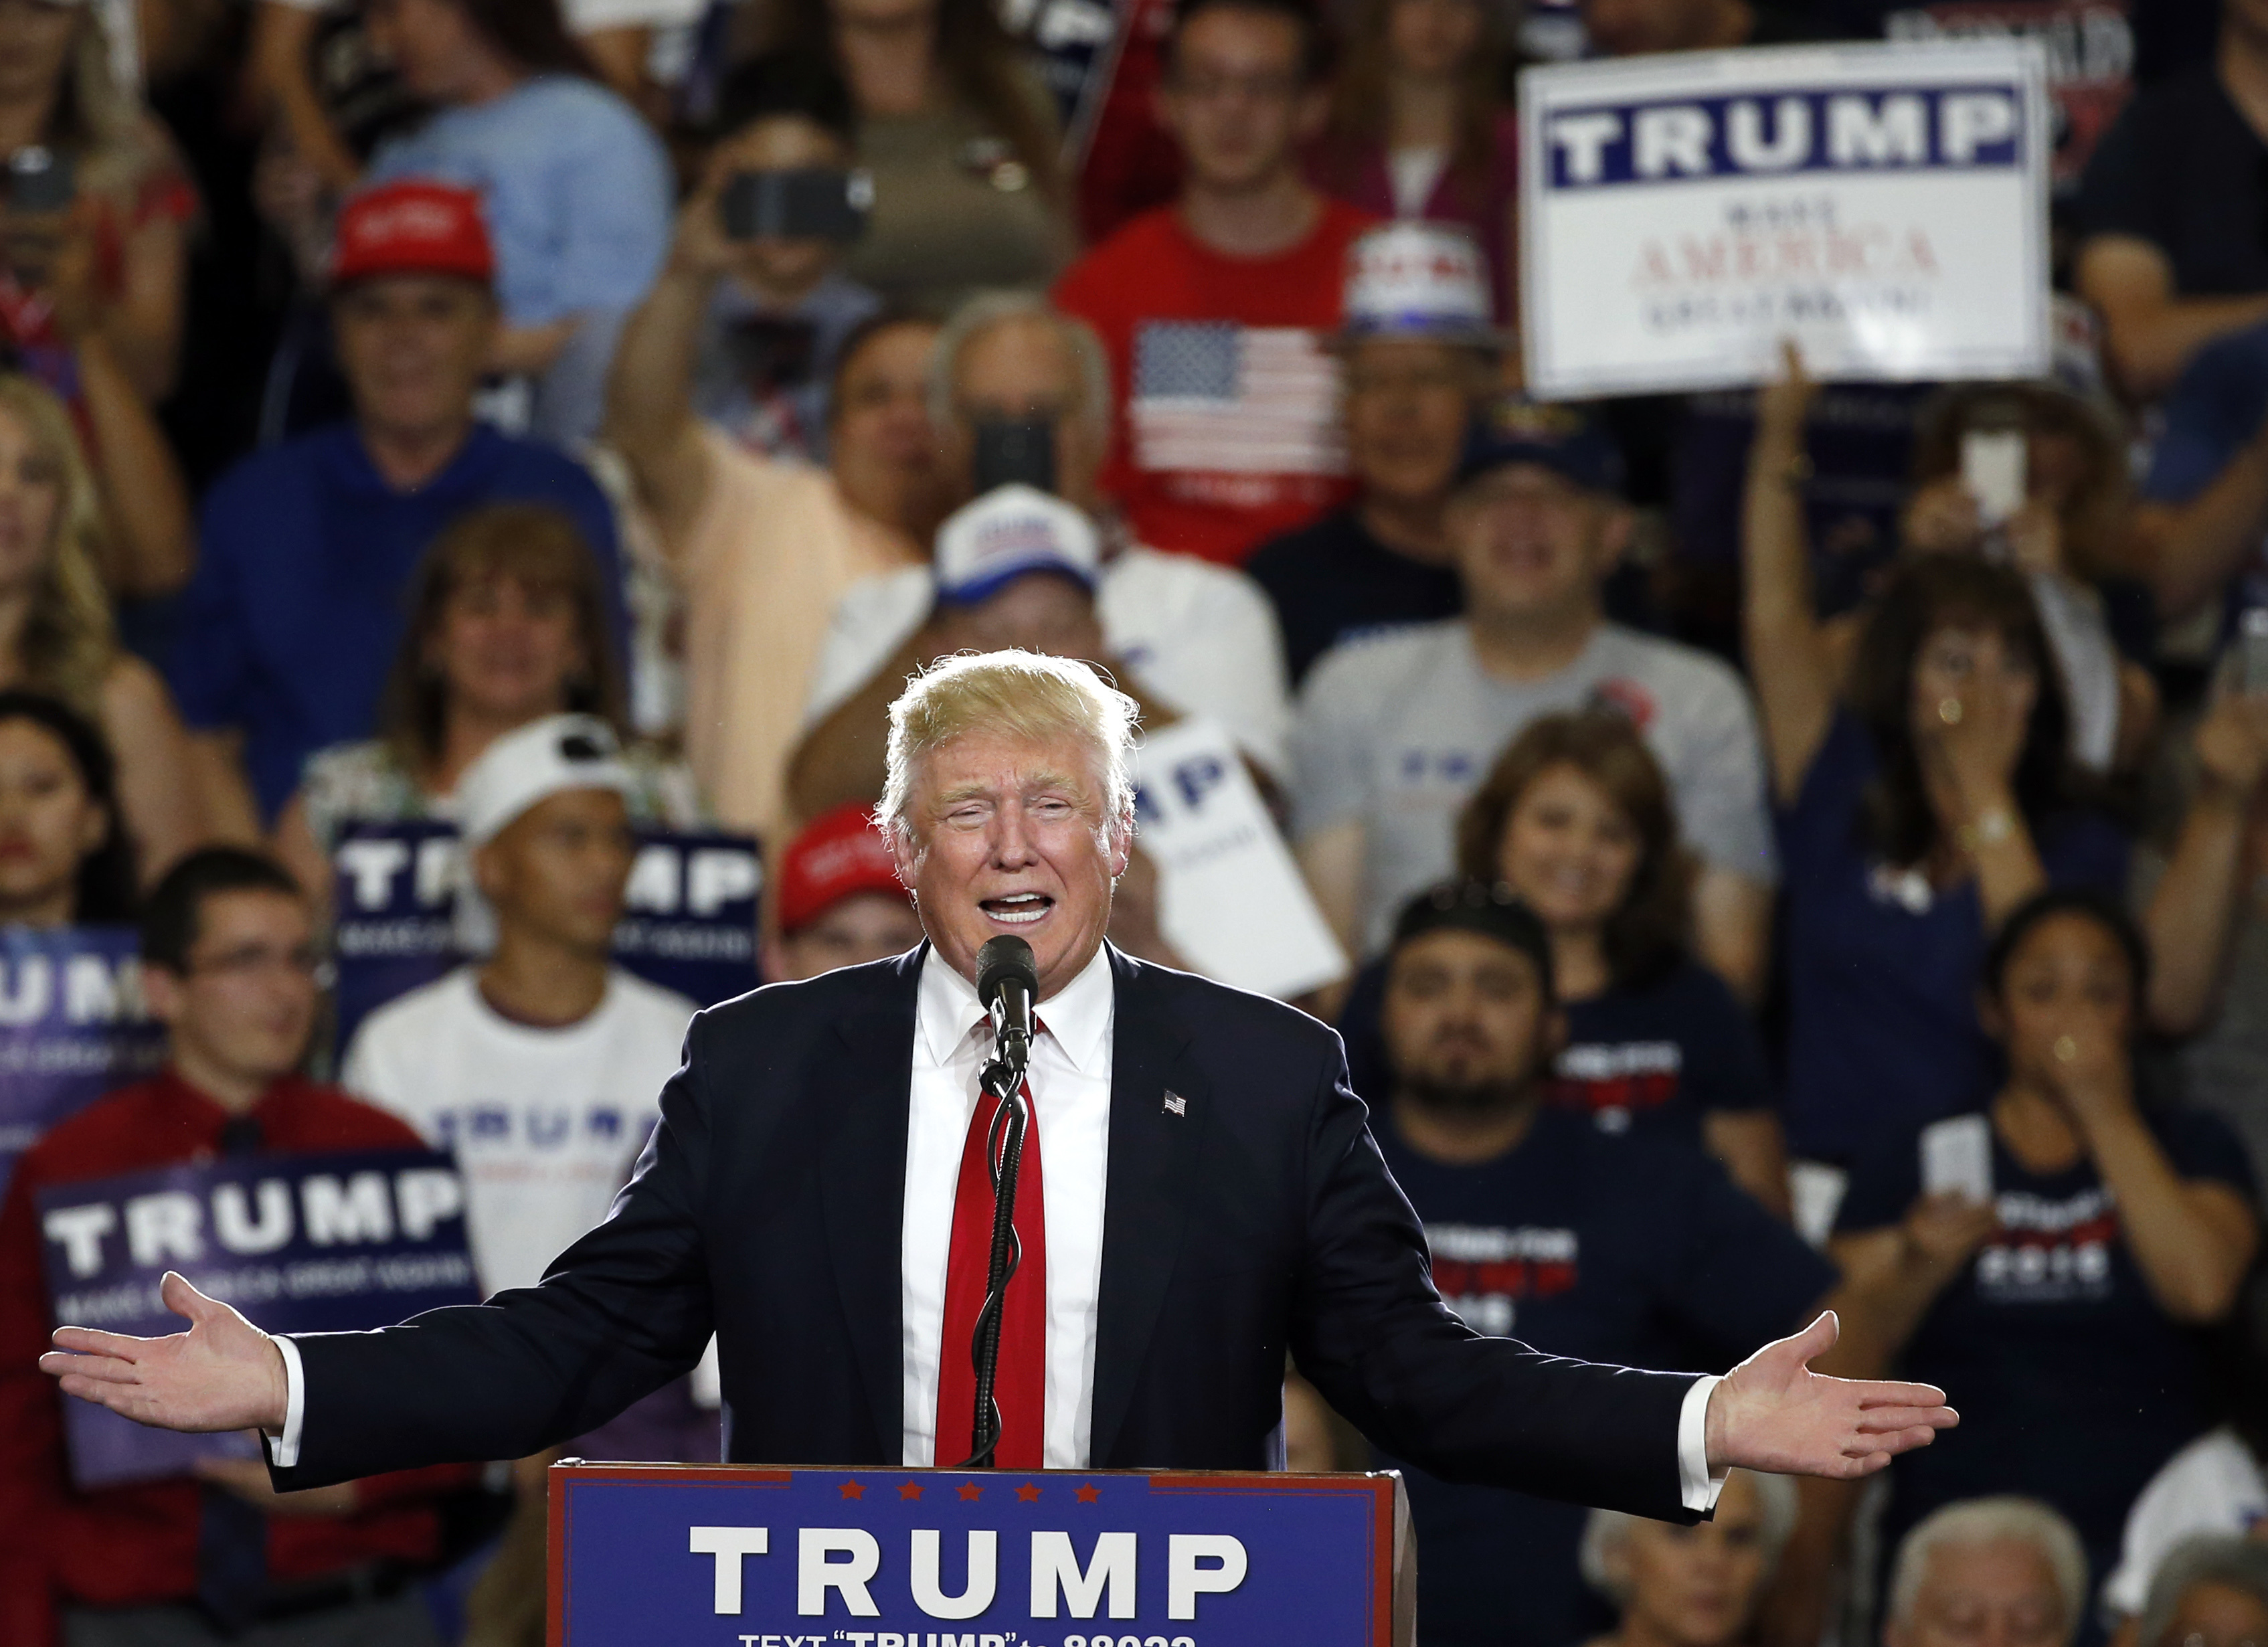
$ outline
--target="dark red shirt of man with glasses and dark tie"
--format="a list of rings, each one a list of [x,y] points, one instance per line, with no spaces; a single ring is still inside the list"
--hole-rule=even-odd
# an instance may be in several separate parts
[[[295,1075],[270,1087],[254,1114],[261,1146],[274,1152],[424,1148],[383,1109]],[[48,1295],[32,1196],[206,1159],[220,1150],[225,1121],[220,1105],[163,1071],[88,1105],[16,1162],[0,1209],[0,1642],[9,1647],[52,1642],[59,1602],[141,1606],[197,1595],[197,1481],[70,1486],[61,1418],[70,1397],[36,1366],[48,1348]],[[381,1559],[431,1561],[440,1547],[431,1500],[469,1479],[469,1466],[404,1470],[361,1481],[354,1515],[272,1518],[268,1572],[290,1581]]]

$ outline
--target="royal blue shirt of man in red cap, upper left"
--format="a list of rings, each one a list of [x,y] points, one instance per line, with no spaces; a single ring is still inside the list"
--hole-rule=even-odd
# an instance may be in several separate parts
[[[615,513],[551,447],[474,424],[449,467],[397,492],[354,424],[331,424],[252,454],[206,492],[168,681],[193,728],[243,728],[263,817],[299,787],[308,755],[372,735],[411,572],[442,526],[481,504],[551,504],[574,520],[599,556],[626,656]]]

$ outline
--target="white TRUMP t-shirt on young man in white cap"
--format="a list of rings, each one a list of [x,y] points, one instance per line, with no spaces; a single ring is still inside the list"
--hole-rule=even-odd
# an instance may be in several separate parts
[[[660,1118],[694,1003],[626,971],[565,1030],[513,1023],[474,966],[372,1012],[347,1048],[347,1091],[454,1148],[481,1286],[535,1286],[606,1218]]]

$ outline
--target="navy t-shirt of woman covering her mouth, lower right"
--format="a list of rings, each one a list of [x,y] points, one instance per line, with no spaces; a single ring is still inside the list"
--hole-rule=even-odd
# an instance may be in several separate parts
[[[2143,1107],[2173,1171],[2252,1196],[2243,1146],[2202,1109]],[[1892,1466],[1882,1547],[1939,1504],[2030,1493],[2080,1529],[2096,1577],[2118,1559],[2127,1506],[2209,1422],[2189,1329],[2150,1298],[2093,1162],[2032,1173],[1998,1134],[2000,1232],[1937,1295],[1901,1377],[1944,1388],[1960,1429]],[[1921,1196],[1921,1127],[1885,1137],[1851,1173],[1837,1232],[1880,1230]]]

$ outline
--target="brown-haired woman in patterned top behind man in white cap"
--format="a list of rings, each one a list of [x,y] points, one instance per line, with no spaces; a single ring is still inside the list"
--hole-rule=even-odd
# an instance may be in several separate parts
[[[494,504],[433,540],[411,581],[411,622],[379,708],[379,735],[306,762],[277,819],[277,858],[318,907],[347,824],[447,819],[456,780],[492,742],[544,715],[599,715],[626,730],[621,665],[606,626],[599,563],[565,515]],[[692,774],[626,746],[640,774],[631,817],[703,821]]]

